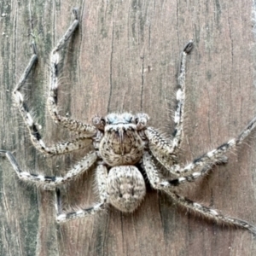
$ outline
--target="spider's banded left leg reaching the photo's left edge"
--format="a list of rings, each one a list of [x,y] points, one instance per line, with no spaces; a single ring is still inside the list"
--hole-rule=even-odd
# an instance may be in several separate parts
[[[56,186],[67,183],[74,177],[78,177],[80,174],[86,172],[90,166],[96,162],[97,158],[96,152],[90,152],[89,154],[86,154],[82,160],[79,160],[79,162],[75,164],[64,177],[54,177],[22,171],[19,164],[15,160],[14,154],[10,153],[9,151],[0,149],[0,155],[4,155],[9,160],[10,164],[13,166],[15,172],[21,180],[43,185],[44,189],[48,190],[55,189]]]

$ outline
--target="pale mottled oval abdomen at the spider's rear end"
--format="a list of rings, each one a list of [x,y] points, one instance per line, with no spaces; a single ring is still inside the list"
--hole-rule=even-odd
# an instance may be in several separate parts
[[[108,200],[121,212],[134,212],[143,201],[146,185],[135,166],[115,166],[108,173]]]

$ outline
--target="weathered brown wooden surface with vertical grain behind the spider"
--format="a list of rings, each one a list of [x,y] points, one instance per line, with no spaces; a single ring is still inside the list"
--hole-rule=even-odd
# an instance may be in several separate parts
[[[39,61],[26,84],[26,100],[48,143],[65,140],[45,108],[49,53],[80,9],[80,26],[67,46],[61,79],[61,113],[90,122],[96,114],[140,111],[150,125],[171,134],[177,66],[188,57],[183,162],[236,136],[256,114],[254,1],[39,1],[0,3],[0,148],[15,152],[23,169],[63,174],[84,152],[44,158],[30,142],[11,90],[31,56]],[[230,154],[226,166],[181,189],[183,195],[256,224],[256,137]],[[110,208],[55,224],[54,196],[21,183],[0,159],[0,255],[255,255],[246,230],[212,224],[173,206],[148,188],[133,214]],[[93,172],[62,189],[66,206],[96,202]],[[65,195],[65,196],[64,196]]]

